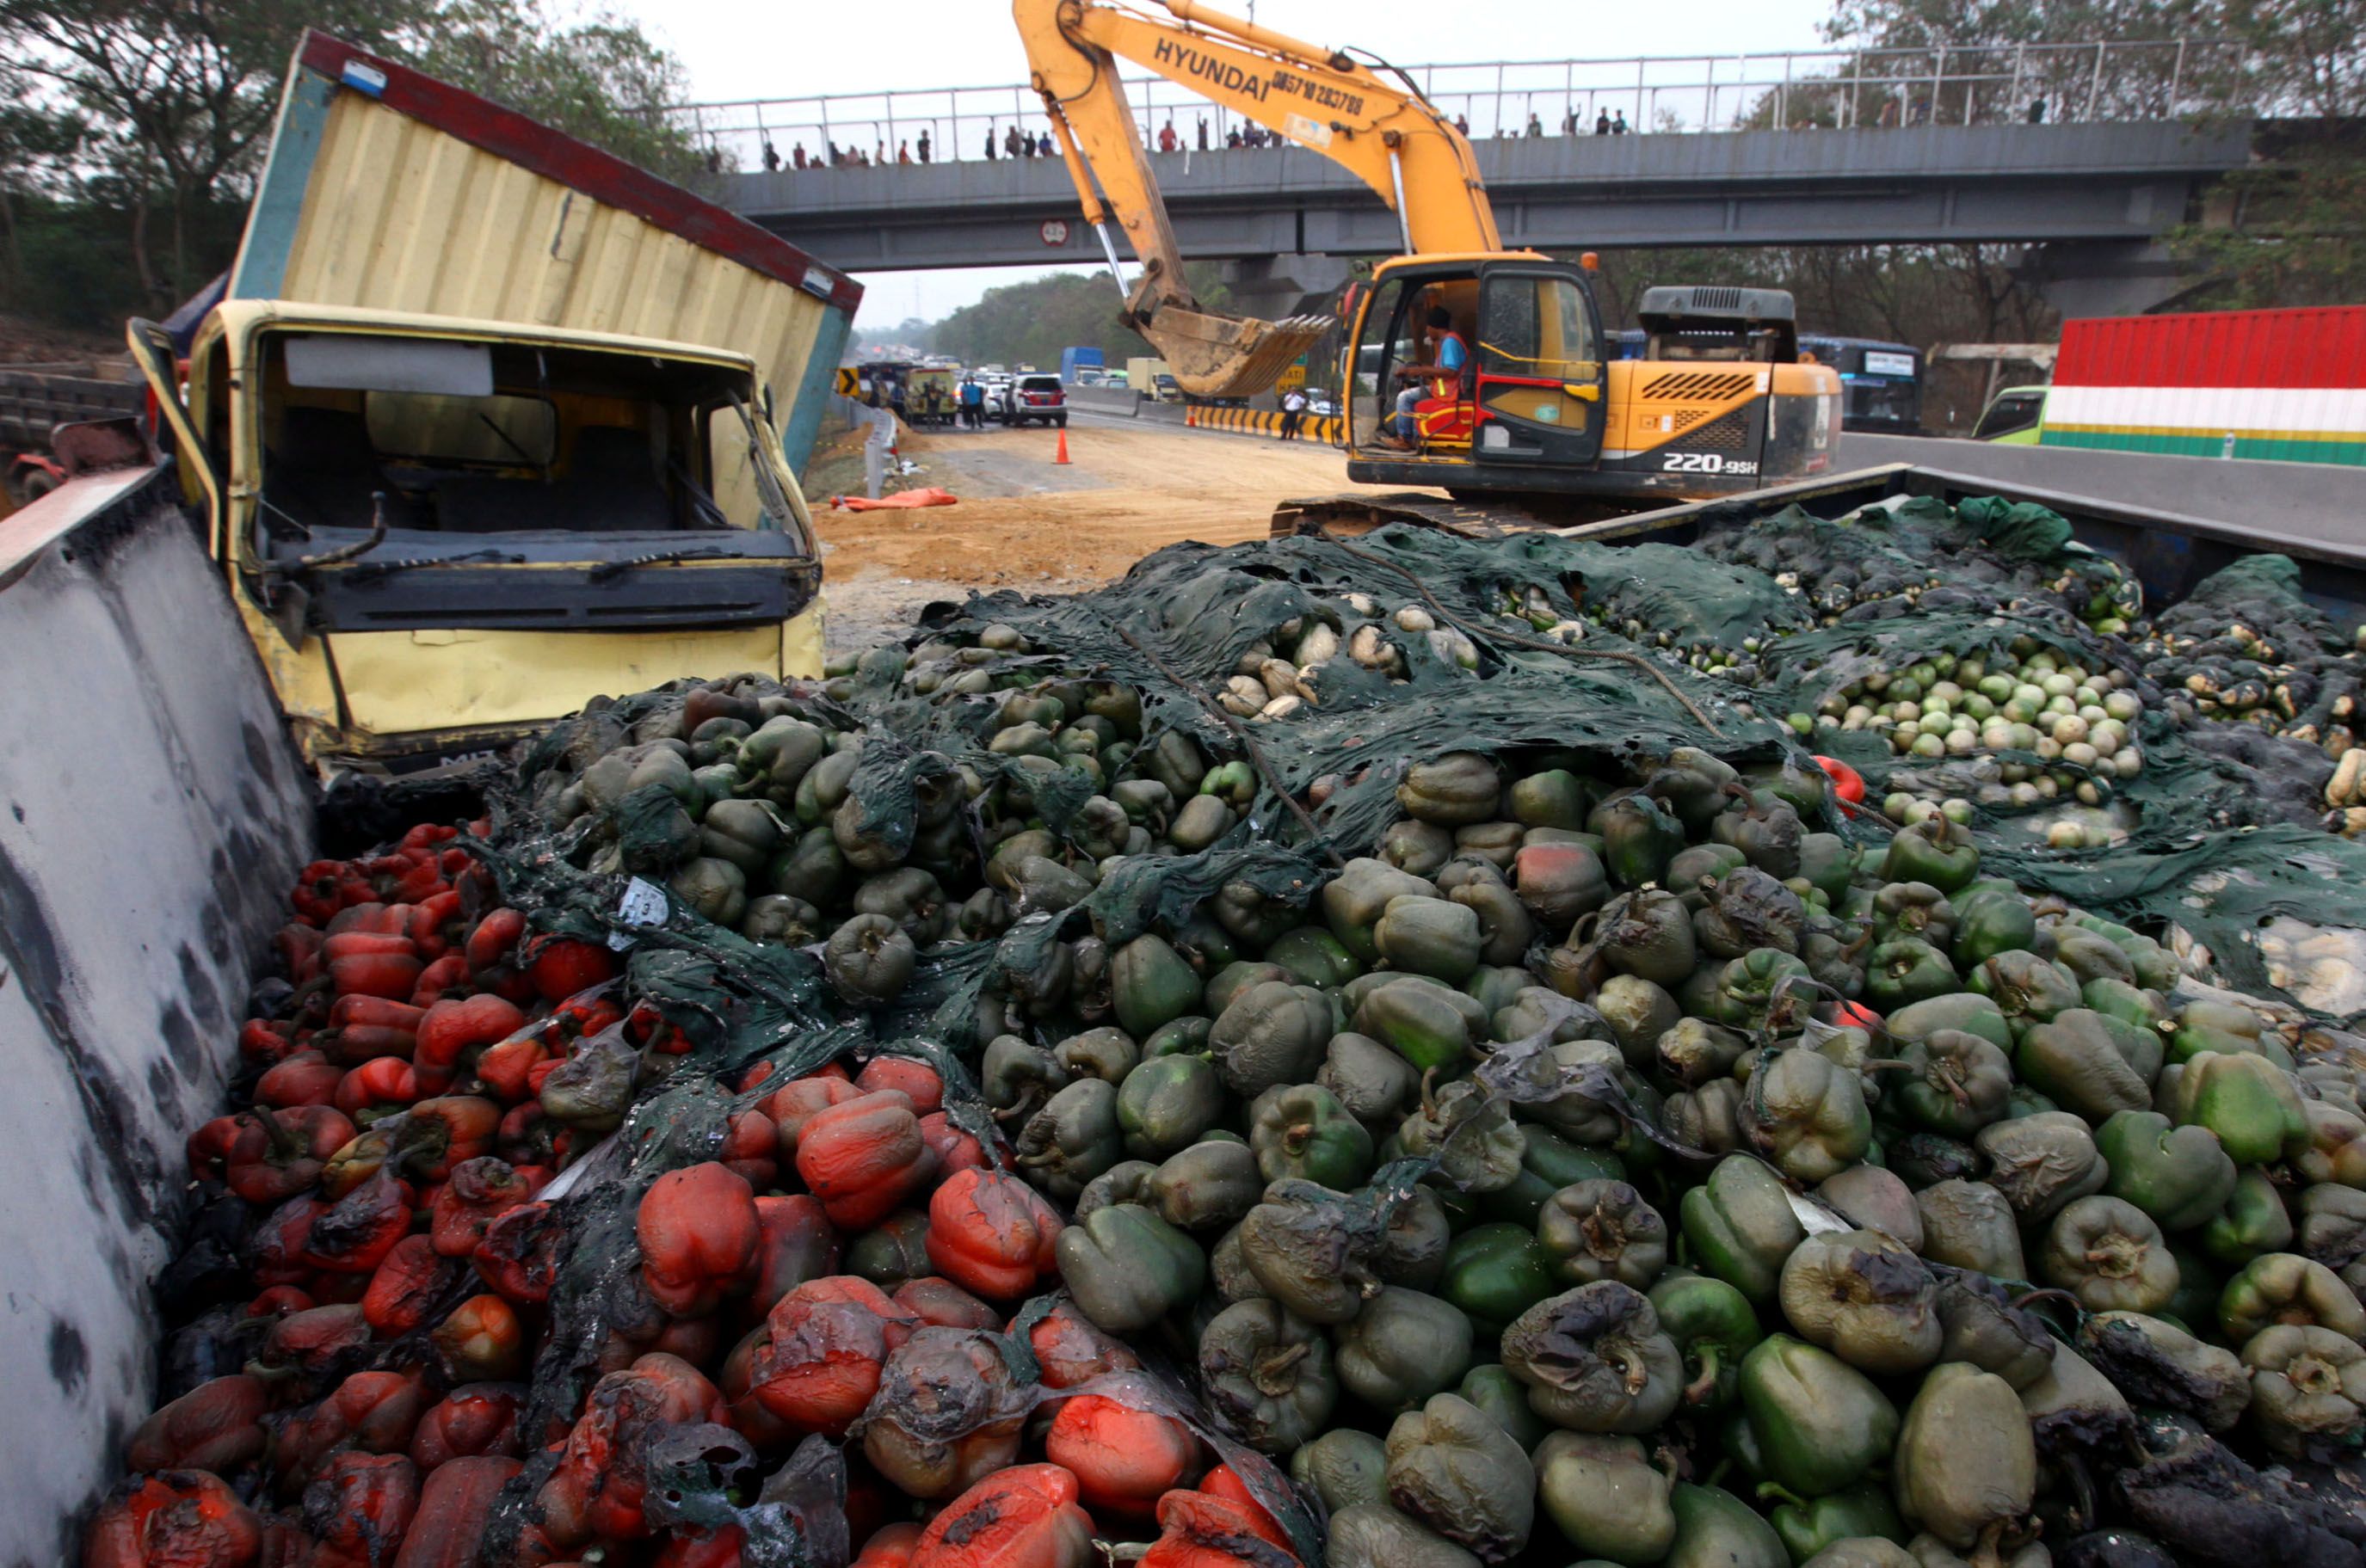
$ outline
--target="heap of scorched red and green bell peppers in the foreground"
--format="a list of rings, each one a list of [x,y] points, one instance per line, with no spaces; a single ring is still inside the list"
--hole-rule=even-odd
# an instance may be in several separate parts
[[[1945,816],[1843,835],[1848,771],[1801,757],[1410,759],[1337,870],[1095,927],[1114,866],[1237,842],[1263,783],[1027,655],[868,665],[998,759],[923,769],[904,830],[845,688],[532,752],[542,887],[804,948],[847,1038],[1008,937],[961,1071],[875,1029],[733,1069],[573,1343],[551,1183],[705,1071],[691,1019],[625,922],[504,887],[487,823],[310,866],[239,1109],[189,1138],[220,1263],[180,1270],[85,1563],[776,1561],[764,1478],[809,1445],[864,1568],[2357,1540],[2260,1469],[2366,1443],[2349,1036],[1983,877]],[[750,1483],[684,1509],[686,1450]]]

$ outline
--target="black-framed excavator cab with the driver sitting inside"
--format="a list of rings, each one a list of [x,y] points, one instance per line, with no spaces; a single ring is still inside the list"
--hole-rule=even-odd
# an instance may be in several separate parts
[[[1429,331],[1446,312],[1443,333]],[[1585,267],[1550,255],[1384,263],[1356,315],[1349,478],[1580,487],[1602,461],[1609,364]],[[1460,359],[1450,374],[1401,376]]]

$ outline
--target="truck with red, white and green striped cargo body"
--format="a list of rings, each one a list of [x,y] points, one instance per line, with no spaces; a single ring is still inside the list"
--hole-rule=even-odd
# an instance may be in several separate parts
[[[2063,322],[2051,385],[1978,440],[2366,468],[2366,305]]]

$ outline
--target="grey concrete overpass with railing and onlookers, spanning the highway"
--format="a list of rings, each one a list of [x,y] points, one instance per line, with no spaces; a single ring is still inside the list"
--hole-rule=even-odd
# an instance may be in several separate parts
[[[2155,241],[2203,218],[2210,184],[2250,161],[2248,121],[2198,130],[2181,118],[2224,109],[2212,50],[1528,61],[1413,76],[1472,123],[1510,246],[2023,244],[2056,303],[2094,315],[2165,298],[2172,274]],[[2205,69],[2212,59],[2222,64]],[[1162,123],[1176,125],[1185,147],[1155,158],[1176,239],[1185,258],[1237,263],[1245,307],[1287,310],[1337,286],[1346,258],[1401,248],[1396,218],[1320,154],[1228,149],[1233,123],[1157,78],[1129,83],[1129,102],[1152,144]],[[1635,135],[1564,135],[1611,102]],[[845,270],[1100,265],[1058,158],[980,156],[1010,125],[1041,130],[1024,88],[686,114],[750,170],[726,175],[731,208]],[[1209,151],[1197,149],[1204,121]],[[897,163],[923,130],[935,161]],[[767,144],[783,161],[828,144],[875,147],[887,161],[767,170]]]

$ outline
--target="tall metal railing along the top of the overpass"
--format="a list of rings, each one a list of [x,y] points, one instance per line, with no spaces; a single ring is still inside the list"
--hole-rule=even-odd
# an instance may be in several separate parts
[[[1635,59],[1448,61],[1405,76],[1472,137],[1817,130],[1874,125],[1995,125],[2009,121],[2165,121],[2248,104],[2241,45],[2196,38],[2030,43],[1924,50],[1791,50],[1779,54],[1661,54]],[[1174,128],[1181,149],[1226,147],[1256,130],[1242,116],[1162,76],[1126,76],[1148,147]],[[781,163],[797,147],[897,161],[1010,156],[1013,128],[1048,135],[1043,104],[1022,83],[686,104],[674,111],[738,168]]]

